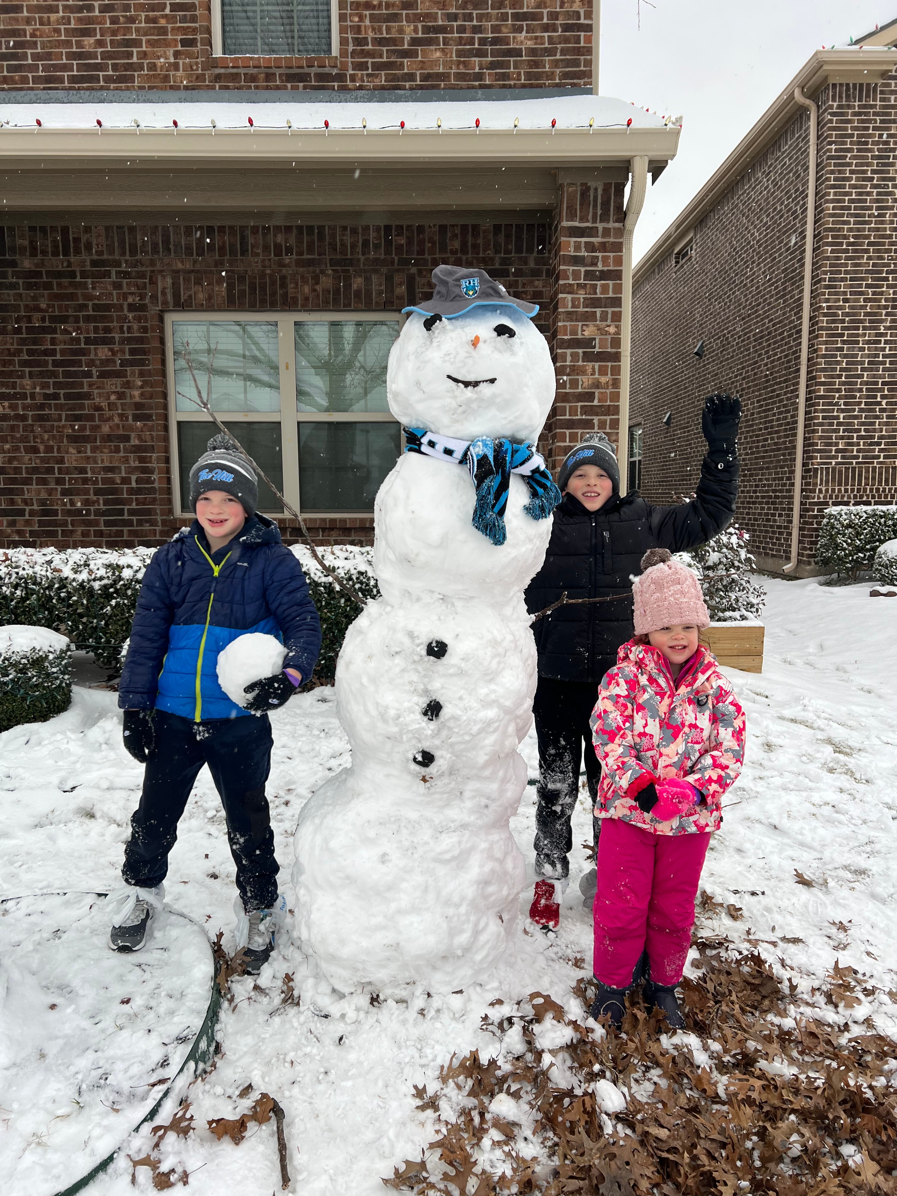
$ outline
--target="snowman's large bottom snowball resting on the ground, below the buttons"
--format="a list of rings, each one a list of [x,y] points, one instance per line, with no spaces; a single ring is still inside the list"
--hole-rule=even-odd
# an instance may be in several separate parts
[[[304,950],[342,991],[451,991],[486,980],[525,881],[509,828],[471,824],[435,794],[410,806],[384,780],[346,769],[303,810],[293,884]]]

